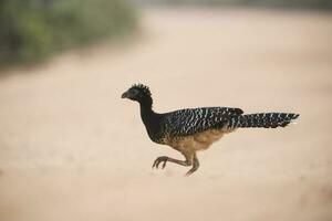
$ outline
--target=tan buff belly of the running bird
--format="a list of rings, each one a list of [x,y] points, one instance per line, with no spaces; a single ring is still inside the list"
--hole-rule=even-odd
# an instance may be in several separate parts
[[[189,136],[166,137],[164,143],[174,149],[184,151],[198,151],[207,149],[212,143],[219,140],[225,134],[232,130],[208,129]]]

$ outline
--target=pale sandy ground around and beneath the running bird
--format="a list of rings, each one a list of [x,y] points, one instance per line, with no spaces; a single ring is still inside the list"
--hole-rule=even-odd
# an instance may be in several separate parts
[[[332,14],[146,9],[128,45],[72,52],[0,78],[0,220],[332,220]],[[157,112],[238,106],[298,112],[298,125],[240,129],[200,168],[153,144],[137,104]]]

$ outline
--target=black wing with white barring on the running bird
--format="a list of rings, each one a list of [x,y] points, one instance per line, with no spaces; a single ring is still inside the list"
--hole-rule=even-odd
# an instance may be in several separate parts
[[[173,136],[193,135],[209,128],[220,128],[230,118],[241,115],[240,108],[201,107],[167,113],[165,130]]]

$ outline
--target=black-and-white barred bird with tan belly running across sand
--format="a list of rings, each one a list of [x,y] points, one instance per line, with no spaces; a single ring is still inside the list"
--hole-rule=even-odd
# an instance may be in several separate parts
[[[160,165],[164,169],[166,162],[191,167],[186,176],[199,168],[197,151],[208,149],[224,135],[238,128],[286,127],[300,116],[294,113],[243,114],[243,110],[237,107],[219,106],[156,113],[153,110],[149,87],[141,83],[131,86],[122,94],[122,98],[138,102],[141,118],[152,141],[167,145],[185,157],[184,160],[167,156],[157,157],[153,168],[158,169]]]

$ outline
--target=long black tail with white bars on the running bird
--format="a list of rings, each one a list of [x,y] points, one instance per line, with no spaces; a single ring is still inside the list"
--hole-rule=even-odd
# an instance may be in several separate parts
[[[258,113],[240,115],[231,118],[227,128],[239,128],[239,127],[264,127],[276,128],[286,127],[292,120],[297,119],[300,115],[293,113]]]

